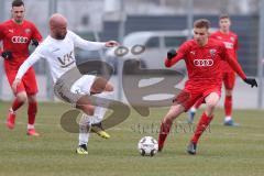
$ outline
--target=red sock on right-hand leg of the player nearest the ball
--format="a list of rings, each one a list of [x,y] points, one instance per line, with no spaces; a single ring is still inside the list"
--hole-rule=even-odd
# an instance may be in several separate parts
[[[198,142],[198,140],[200,139],[200,135],[202,134],[202,132],[207,129],[207,127],[210,124],[212,117],[208,117],[206,114],[206,112],[202,113],[199,123],[196,127],[196,131],[195,134],[191,139],[191,141],[196,144]]]

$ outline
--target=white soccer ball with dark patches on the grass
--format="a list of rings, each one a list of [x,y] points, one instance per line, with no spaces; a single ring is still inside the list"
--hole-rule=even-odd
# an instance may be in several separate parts
[[[138,150],[142,156],[154,156],[157,147],[157,141],[152,136],[144,136],[138,143]]]

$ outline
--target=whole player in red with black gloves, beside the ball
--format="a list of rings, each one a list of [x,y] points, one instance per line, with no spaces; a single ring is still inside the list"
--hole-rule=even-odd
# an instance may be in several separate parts
[[[164,142],[169,133],[173,121],[200,98],[206,102],[194,136],[187,152],[196,154],[199,138],[213,118],[215,108],[220,99],[222,85],[221,62],[226,61],[231,68],[252,87],[257,86],[256,80],[246,78],[238,62],[227,51],[222,42],[209,37],[210,22],[200,19],[194,23],[194,40],[189,40],[179,46],[178,51],[169,51],[165,61],[166,67],[172,67],[178,61],[184,59],[187,67],[188,80],[184,90],[176,96],[167,114],[164,117],[158,135],[158,151],[162,151]]]

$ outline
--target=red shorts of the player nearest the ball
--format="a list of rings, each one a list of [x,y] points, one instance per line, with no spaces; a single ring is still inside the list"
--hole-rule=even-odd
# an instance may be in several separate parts
[[[196,103],[197,100],[199,100],[200,98],[205,99],[211,92],[216,92],[219,95],[219,97],[221,97],[221,86],[206,87],[199,89],[198,91],[189,90],[185,87],[185,89],[178,96],[176,96],[174,102],[184,106],[186,112]]]

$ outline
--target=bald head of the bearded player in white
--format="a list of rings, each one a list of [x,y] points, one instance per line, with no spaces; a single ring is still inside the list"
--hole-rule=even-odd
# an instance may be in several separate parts
[[[67,20],[59,13],[55,13],[50,19],[51,35],[56,40],[64,40],[67,34]]]

